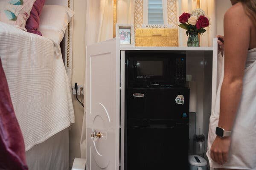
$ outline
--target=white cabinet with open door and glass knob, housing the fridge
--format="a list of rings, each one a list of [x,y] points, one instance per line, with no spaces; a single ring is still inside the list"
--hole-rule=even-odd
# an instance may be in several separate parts
[[[87,46],[87,170],[124,169],[125,51],[186,53],[186,74],[196,82],[196,132],[207,136],[217,91],[217,39],[213,47],[121,47],[113,39]]]

